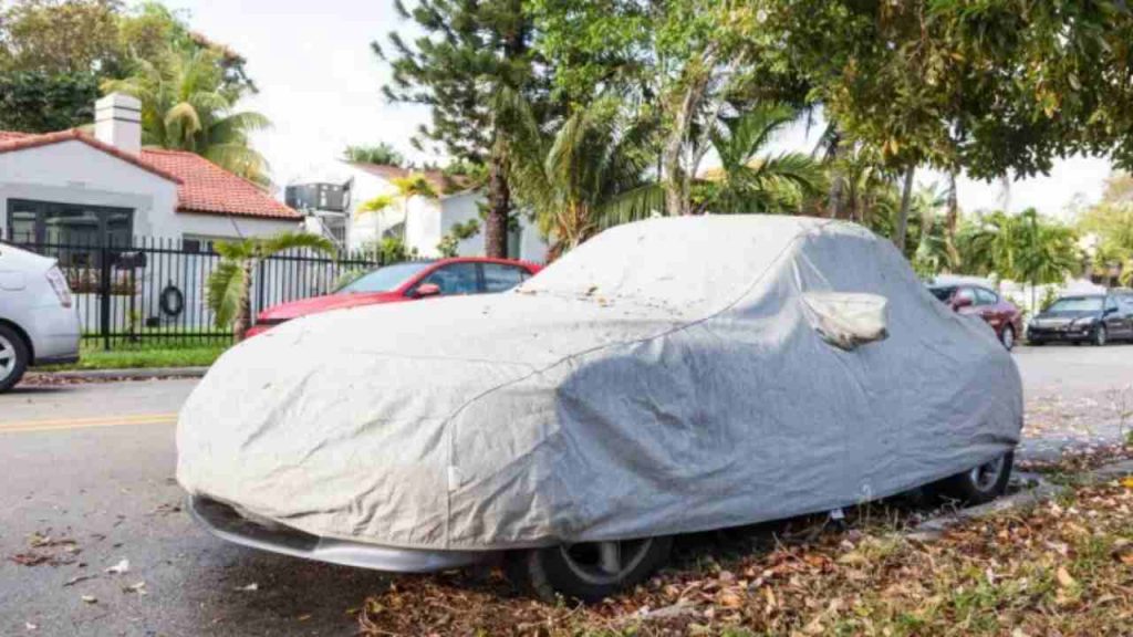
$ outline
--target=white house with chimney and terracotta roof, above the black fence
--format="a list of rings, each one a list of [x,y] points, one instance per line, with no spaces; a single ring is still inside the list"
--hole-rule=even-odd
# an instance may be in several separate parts
[[[95,104],[95,131],[0,131],[0,235],[83,243],[136,237],[213,239],[297,230],[303,216],[193,153],[142,147],[140,103]]]

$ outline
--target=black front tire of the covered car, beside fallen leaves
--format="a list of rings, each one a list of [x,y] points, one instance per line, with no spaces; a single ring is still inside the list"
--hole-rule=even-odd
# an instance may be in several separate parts
[[[673,541],[671,537],[647,537],[603,544],[619,545],[619,554],[628,554],[630,563],[616,572],[602,571],[600,566],[588,563],[587,555],[591,553],[600,561],[598,543],[564,544],[513,551],[505,558],[504,570],[516,588],[548,603],[554,603],[560,595],[587,603],[600,602],[640,584],[664,566]]]

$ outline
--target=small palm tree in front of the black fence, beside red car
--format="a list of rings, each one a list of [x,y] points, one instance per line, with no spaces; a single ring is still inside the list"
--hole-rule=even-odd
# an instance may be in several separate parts
[[[269,238],[221,241],[215,245],[222,260],[208,275],[208,308],[216,326],[232,326],[237,342],[252,326],[253,272],[263,260],[289,249],[308,248],[334,255],[334,244],[325,237],[306,232],[281,232]]]

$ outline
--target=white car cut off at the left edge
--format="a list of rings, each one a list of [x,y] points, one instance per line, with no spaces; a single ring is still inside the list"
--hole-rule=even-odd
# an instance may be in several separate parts
[[[78,314],[56,261],[0,243],[0,392],[28,367],[78,360]]]

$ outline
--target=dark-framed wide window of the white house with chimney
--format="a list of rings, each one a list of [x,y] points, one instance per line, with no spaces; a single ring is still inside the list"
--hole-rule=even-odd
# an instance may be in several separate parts
[[[134,211],[31,199],[8,201],[8,235],[15,243],[48,244],[65,265],[93,263],[94,248],[129,246]]]

